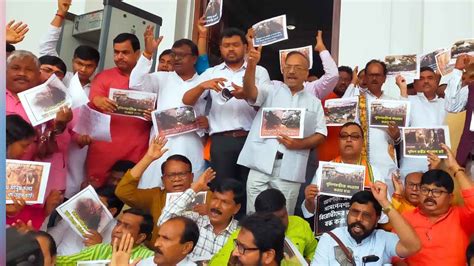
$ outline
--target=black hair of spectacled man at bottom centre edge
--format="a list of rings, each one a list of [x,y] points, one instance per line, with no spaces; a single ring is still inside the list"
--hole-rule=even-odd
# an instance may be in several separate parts
[[[254,243],[260,252],[275,250],[275,260],[279,264],[283,259],[285,245],[285,226],[271,213],[254,213],[244,217],[240,226],[252,233]]]

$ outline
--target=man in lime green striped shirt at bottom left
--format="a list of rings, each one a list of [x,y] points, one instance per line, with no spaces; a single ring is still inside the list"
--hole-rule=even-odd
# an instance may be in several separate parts
[[[151,237],[153,219],[146,212],[138,209],[128,209],[117,218],[117,224],[112,230],[111,243],[101,243],[83,249],[81,252],[58,256],[56,265],[76,265],[78,261],[110,260],[112,257],[112,243],[120,242],[128,234],[133,239],[131,259],[148,258],[153,256],[153,251],[146,248],[143,243]]]

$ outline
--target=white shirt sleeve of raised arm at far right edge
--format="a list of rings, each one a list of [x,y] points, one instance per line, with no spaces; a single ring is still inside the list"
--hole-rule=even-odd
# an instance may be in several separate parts
[[[448,85],[444,91],[446,111],[459,113],[466,110],[468,93],[468,86],[462,87],[462,71],[455,68],[448,79]]]

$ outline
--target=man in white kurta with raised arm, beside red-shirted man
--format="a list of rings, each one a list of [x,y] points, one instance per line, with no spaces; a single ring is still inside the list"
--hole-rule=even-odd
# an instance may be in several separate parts
[[[152,56],[158,48],[163,36],[155,39],[154,27],[147,26],[144,33],[145,50],[143,51],[137,65],[130,75],[130,88],[140,91],[148,91],[157,94],[157,111],[165,111],[172,108],[183,107],[182,98],[190,88],[198,84],[199,75],[194,65],[198,58],[198,48],[191,40],[180,39],[174,42],[171,50],[174,55],[174,71],[152,72]],[[201,129],[207,128],[207,119],[204,116],[206,102],[199,101],[194,106],[196,120]],[[143,173],[140,180],[140,188],[154,188],[161,186],[161,180],[156,178],[162,176],[161,164],[173,154],[181,154],[188,158],[193,166],[193,173],[200,175],[205,170],[202,158],[202,139],[204,130],[192,131],[185,134],[168,138],[166,148],[167,154],[154,161]],[[150,139],[159,132],[153,128]],[[169,154],[169,155],[168,155]]]

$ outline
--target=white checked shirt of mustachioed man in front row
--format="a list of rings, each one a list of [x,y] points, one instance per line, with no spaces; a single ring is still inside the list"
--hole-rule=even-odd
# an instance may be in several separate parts
[[[207,258],[210,259],[216,254],[227,242],[232,232],[238,227],[237,220],[232,219],[222,232],[215,234],[214,226],[207,215],[200,215],[195,212],[184,211],[189,203],[196,197],[196,192],[192,189],[186,190],[172,203],[167,204],[158,220],[158,226],[162,225],[168,219],[175,216],[185,216],[196,222],[199,227],[199,240],[194,247],[193,252],[189,255],[191,258]]]

